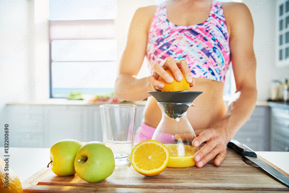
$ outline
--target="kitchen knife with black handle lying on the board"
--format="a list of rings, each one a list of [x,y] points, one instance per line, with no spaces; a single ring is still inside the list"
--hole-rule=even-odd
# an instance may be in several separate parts
[[[257,154],[251,150],[249,147],[247,147],[244,144],[241,144],[239,141],[232,139],[227,147],[234,149],[235,152],[240,154],[242,158],[247,158],[251,160],[253,163],[260,166],[263,170],[271,174],[273,177],[277,178],[279,181],[284,183],[289,187],[289,178],[287,178],[284,174],[270,166],[268,163],[260,159]]]

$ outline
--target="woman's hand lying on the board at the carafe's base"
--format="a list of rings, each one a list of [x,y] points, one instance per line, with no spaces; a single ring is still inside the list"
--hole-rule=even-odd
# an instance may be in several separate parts
[[[192,144],[194,147],[200,146],[205,141],[207,142],[195,155],[194,161],[198,168],[203,167],[208,161],[213,159],[214,164],[219,166],[226,157],[228,136],[225,129],[209,128],[204,130],[195,130],[196,137]]]

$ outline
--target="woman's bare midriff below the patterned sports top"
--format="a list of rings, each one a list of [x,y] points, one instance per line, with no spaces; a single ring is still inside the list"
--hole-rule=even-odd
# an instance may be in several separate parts
[[[188,119],[194,130],[207,129],[216,125],[227,109],[223,101],[223,82],[203,78],[194,78],[195,86],[189,91],[203,91],[195,100],[195,107],[188,112]],[[153,97],[147,99],[144,108],[144,123],[156,128],[162,118],[162,112]]]

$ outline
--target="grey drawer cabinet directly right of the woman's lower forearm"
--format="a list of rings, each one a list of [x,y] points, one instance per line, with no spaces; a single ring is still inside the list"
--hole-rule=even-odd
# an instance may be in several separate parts
[[[269,151],[270,108],[256,106],[249,120],[238,130],[234,139],[254,151]]]

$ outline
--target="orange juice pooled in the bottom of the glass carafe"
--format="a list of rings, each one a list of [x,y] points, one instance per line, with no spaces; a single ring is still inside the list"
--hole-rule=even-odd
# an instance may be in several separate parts
[[[170,153],[170,161],[167,167],[172,168],[185,168],[190,166],[195,166],[196,162],[193,160],[193,156],[198,148],[193,146],[188,146],[184,144],[164,144]]]

